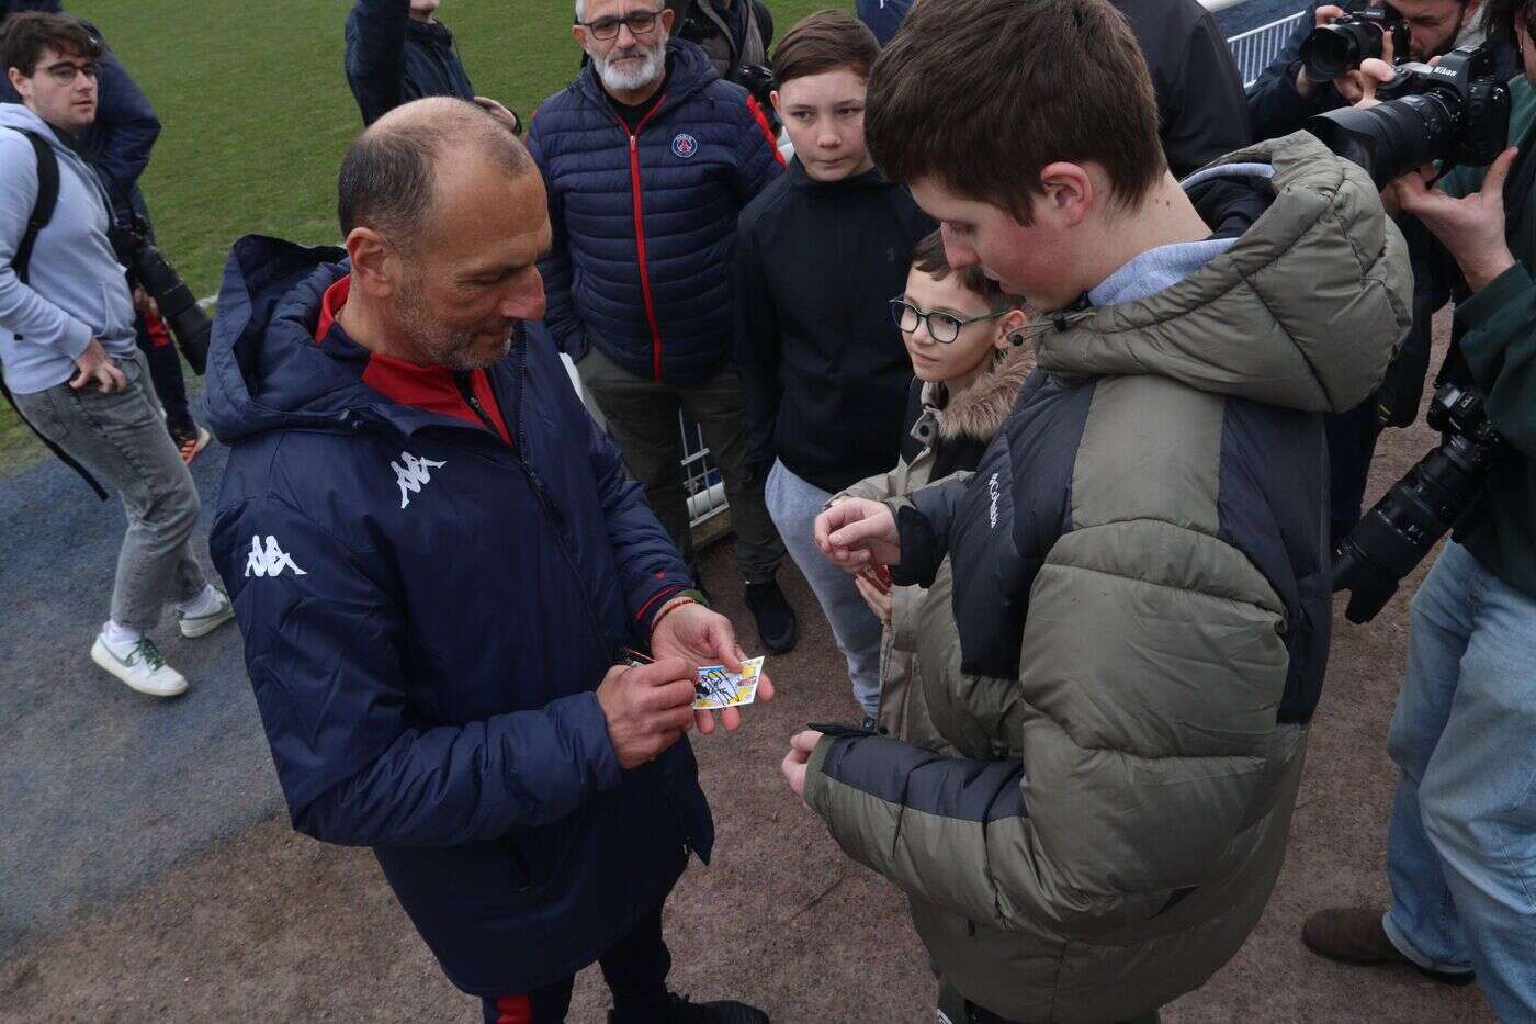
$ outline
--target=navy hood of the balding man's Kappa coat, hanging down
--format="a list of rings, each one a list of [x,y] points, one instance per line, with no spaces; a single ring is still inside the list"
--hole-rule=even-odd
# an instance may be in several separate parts
[[[315,343],[321,298],[349,272],[346,255],[261,235],[235,243],[201,398],[224,444],[289,427],[344,431],[355,411],[384,403],[361,380],[367,349]]]

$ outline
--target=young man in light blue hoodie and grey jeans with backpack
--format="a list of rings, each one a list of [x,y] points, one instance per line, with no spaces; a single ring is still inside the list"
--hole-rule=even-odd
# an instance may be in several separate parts
[[[144,381],[106,189],[72,145],[95,117],[100,57],[100,42],[57,14],[14,15],[0,37],[0,66],[22,97],[0,105],[0,364],[45,441],[123,497],[112,618],[91,658],[141,693],[174,697],[186,680],[144,635],[161,604],[177,601],[184,637],[232,612],[192,554],[197,489]],[[45,177],[57,203],[37,228]]]

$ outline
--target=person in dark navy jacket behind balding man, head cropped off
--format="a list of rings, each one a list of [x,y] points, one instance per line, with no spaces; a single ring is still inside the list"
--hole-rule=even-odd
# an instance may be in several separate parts
[[[490,97],[475,95],[453,32],[438,20],[441,0],[358,0],[347,15],[347,85],[372,125],[401,103],[427,95],[473,100],[522,134],[516,114]]]

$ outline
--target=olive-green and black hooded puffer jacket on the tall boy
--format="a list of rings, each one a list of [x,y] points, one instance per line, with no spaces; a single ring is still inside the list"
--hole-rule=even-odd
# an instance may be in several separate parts
[[[1041,321],[977,472],[888,503],[897,583],[952,566],[914,630],[923,690],[957,695],[942,743],[828,735],[806,775],[934,969],[1014,1021],[1201,986],[1284,859],[1332,621],[1321,414],[1375,389],[1413,284],[1369,177],[1310,135],[1218,163],[1272,172],[1236,243]]]

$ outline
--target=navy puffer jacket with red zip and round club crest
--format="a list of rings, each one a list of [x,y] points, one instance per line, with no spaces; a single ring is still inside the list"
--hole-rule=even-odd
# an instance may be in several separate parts
[[[702,49],[667,45],[660,103],[625,125],[587,66],[533,115],[528,149],[554,241],[539,263],[556,344],[647,380],[708,380],[733,349],[736,217],[783,160],[745,89]]]

